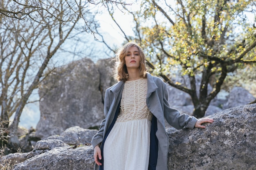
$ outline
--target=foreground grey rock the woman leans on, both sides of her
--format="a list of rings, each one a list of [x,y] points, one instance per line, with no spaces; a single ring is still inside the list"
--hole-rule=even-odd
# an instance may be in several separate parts
[[[206,124],[206,129],[166,130],[168,168],[255,170],[256,104],[229,108],[210,117],[215,121]],[[38,150],[50,148],[49,144],[40,146]],[[93,166],[92,146],[62,146],[31,157],[14,170],[93,170]]]

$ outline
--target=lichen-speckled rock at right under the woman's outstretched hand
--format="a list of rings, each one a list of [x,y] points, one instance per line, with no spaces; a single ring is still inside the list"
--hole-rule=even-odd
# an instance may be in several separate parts
[[[210,116],[206,129],[167,130],[168,167],[175,170],[255,170],[256,104]]]

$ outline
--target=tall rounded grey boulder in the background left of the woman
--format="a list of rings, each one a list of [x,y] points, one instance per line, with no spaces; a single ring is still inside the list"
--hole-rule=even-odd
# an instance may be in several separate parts
[[[88,58],[58,68],[39,90],[40,121],[36,136],[59,135],[72,126],[99,126],[103,102],[98,68]]]

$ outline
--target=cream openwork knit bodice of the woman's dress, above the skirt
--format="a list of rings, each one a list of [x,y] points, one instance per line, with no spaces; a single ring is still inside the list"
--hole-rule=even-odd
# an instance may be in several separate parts
[[[125,82],[117,121],[152,119],[146,104],[147,89],[147,79]]]

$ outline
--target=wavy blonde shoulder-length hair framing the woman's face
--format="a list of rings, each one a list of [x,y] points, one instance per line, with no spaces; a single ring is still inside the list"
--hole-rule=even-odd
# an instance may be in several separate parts
[[[128,42],[124,46],[119,49],[119,51],[116,53],[116,63],[115,63],[115,73],[114,77],[118,81],[124,81],[128,79],[128,71],[125,64],[125,56],[127,55],[130,47],[136,46],[139,51],[139,57],[140,57],[140,64],[139,64],[139,75],[140,77],[146,78],[147,68],[146,68],[146,61],[145,61],[145,55],[142,51],[141,47],[136,44],[135,42]]]

